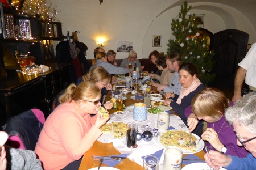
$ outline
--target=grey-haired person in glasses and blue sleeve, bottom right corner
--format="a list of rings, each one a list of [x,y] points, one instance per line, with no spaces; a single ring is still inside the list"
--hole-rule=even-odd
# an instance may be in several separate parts
[[[204,158],[213,169],[255,169],[256,167],[256,92],[238,100],[233,107],[226,110],[225,116],[229,124],[233,125],[237,136],[237,145],[245,147],[250,152],[246,158],[224,155],[210,150]]]

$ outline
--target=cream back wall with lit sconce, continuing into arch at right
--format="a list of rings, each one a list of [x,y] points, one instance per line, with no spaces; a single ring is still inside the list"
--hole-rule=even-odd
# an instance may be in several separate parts
[[[105,37],[106,51],[117,51],[118,41],[133,42],[138,59],[147,58],[152,50],[166,52],[167,42],[171,35],[171,18],[179,14],[180,6],[163,12],[177,0],[104,0],[101,5],[98,0],[54,0],[52,6],[61,10],[56,18],[63,23],[63,34],[67,31],[80,31],[79,41],[88,46],[88,59],[92,59],[93,50],[97,47],[97,37]],[[205,14],[204,28],[216,33],[226,29],[225,18],[216,12],[202,10],[203,5],[216,6],[226,10],[234,17],[236,28],[250,34],[249,44],[253,44],[256,33],[240,12],[228,6],[216,3],[192,3],[193,13]],[[198,9],[196,7],[198,6]],[[161,12],[163,12],[161,14]],[[161,15],[159,15],[161,14]],[[158,16],[159,15],[159,16]],[[230,28],[229,28],[230,29]],[[163,35],[162,47],[152,47],[152,35]],[[126,58],[128,53],[117,53],[117,59]]]

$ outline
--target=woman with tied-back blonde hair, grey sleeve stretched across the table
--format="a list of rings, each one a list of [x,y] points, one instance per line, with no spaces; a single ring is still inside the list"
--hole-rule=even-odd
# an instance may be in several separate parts
[[[108,71],[109,74],[120,75],[120,74],[130,73],[131,71],[133,71],[132,69],[117,67],[117,66],[114,66],[114,65],[108,63],[106,53],[104,53],[104,52],[98,52],[96,54],[96,58],[94,58],[92,60],[92,67],[90,67],[90,70],[92,70],[96,66],[104,67],[104,69],[106,69],[106,71]]]

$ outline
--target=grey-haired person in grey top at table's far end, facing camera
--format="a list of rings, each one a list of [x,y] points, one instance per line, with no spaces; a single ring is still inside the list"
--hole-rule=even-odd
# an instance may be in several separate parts
[[[128,58],[124,58],[121,62],[120,67],[126,67],[128,68],[129,63],[131,63],[132,68],[134,68],[134,65],[136,64],[136,67],[139,67],[140,70],[144,69],[144,66],[141,66],[141,63],[139,62],[139,59],[137,59],[137,53],[134,50],[131,50],[128,54]]]

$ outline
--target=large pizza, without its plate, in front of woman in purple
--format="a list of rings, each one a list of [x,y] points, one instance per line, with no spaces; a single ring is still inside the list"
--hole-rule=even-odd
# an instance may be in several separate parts
[[[191,143],[196,141],[196,137],[191,135]],[[160,136],[160,142],[164,146],[177,146],[195,152],[197,147],[190,145],[190,133],[183,130],[167,130]]]

